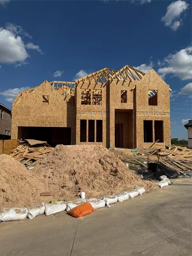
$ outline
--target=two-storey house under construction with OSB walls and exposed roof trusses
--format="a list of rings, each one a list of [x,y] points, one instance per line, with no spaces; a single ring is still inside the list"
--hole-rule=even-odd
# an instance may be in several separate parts
[[[169,144],[169,85],[151,69],[104,68],[75,82],[44,81],[12,106],[12,139],[105,147]]]

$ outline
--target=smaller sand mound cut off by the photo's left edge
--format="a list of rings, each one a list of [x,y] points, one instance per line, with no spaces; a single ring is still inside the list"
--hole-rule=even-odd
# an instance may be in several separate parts
[[[29,206],[41,202],[45,185],[33,175],[33,170],[13,157],[0,155],[0,207]]]

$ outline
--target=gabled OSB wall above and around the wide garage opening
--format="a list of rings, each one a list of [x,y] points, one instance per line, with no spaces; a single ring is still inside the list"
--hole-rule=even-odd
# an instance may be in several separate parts
[[[43,102],[43,95],[49,96],[49,103]],[[71,127],[71,140],[75,141],[75,119],[71,102],[45,81],[13,105],[11,138],[17,139],[18,126]]]

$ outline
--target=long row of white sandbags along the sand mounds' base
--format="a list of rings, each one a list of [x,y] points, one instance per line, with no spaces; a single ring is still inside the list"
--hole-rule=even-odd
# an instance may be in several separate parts
[[[110,207],[110,204],[122,202],[128,200],[129,198],[134,198],[135,196],[142,195],[145,192],[144,188],[138,186],[135,187],[133,191],[122,191],[119,194],[103,196],[100,199],[90,198],[90,199],[76,199],[73,201],[59,201],[50,204],[37,204],[29,208],[3,208],[0,209],[0,222],[4,221],[13,221],[13,220],[22,220],[28,217],[29,219],[34,219],[36,216],[44,214],[46,216],[62,211],[69,212],[76,206],[79,206],[83,203],[90,203],[93,209],[101,207]]]

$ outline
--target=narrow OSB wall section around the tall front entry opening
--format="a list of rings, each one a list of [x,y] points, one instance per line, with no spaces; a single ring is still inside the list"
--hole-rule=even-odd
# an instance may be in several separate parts
[[[122,109],[122,110],[133,109],[132,87],[134,85],[135,85],[135,81],[131,82],[129,80],[127,80],[126,82],[123,80],[120,80],[120,81],[113,80],[111,83],[109,83],[109,123],[110,123],[109,147],[112,147],[112,148],[115,147],[115,109]],[[121,103],[121,90],[127,90],[127,103]],[[133,128],[131,130],[133,131]],[[127,141],[127,136],[125,137],[125,139],[123,139],[123,141],[124,141],[124,144],[127,145],[124,147],[130,146],[131,142],[130,140]]]

